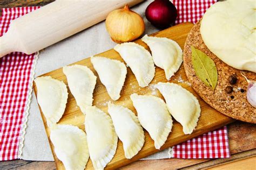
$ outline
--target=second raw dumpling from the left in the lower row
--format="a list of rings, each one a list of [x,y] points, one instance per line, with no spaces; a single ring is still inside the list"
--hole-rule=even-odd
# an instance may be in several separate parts
[[[85,110],[85,131],[90,158],[95,169],[103,169],[116,153],[117,134],[109,115],[95,106]]]

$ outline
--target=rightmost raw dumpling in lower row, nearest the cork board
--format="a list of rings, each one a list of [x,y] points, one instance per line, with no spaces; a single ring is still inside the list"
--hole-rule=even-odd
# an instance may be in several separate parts
[[[197,98],[178,84],[160,82],[155,87],[164,96],[172,116],[183,126],[183,132],[191,134],[201,112]]]

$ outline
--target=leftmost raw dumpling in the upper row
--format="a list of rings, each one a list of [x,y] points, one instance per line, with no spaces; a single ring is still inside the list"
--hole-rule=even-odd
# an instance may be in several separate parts
[[[37,77],[37,101],[46,118],[48,126],[55,124],[64,114],[68,100],[68,89],[62,81],[51,76]]]

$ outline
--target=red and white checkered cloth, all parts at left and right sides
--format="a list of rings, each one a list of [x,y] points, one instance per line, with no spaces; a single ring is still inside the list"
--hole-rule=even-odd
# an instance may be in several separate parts
[[[178,10],[176,24],[196,23],[213,0],[173,0]],[[39,7],[3,9],[0,18],[0,36],[9,27],[10,21]],[[18,158],[26,105],[29,96],[29,83],[35,54],[11,53],[0,59],[0,160]],[[174,158],[228,158],[227,128],[203,134],[173,147]]]

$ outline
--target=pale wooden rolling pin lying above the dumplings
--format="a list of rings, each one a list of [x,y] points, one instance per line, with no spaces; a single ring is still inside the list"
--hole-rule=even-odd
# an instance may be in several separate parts
[[[32,54],[95,25],[115,9],[143,0],[58,0],[12,20],[0,37],[0,58],[11,52]]]

